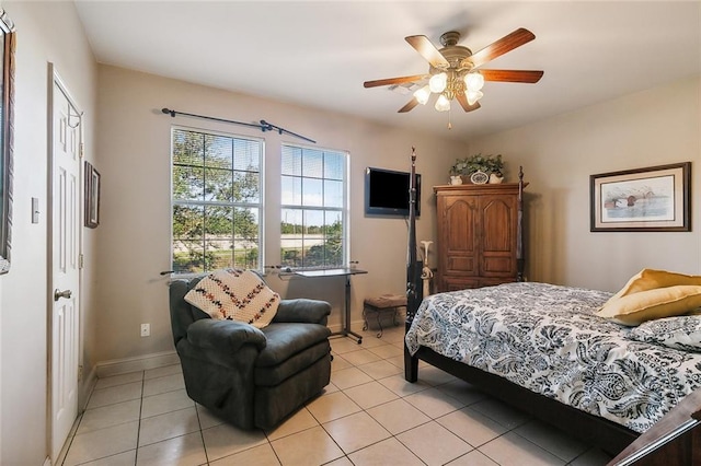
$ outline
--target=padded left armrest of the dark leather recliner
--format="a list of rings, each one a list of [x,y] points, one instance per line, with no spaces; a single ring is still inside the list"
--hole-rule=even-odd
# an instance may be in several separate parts
[[[203,318],[187,327],[187,341],[196,348],[231,354],[243,345],[265,348],[265,335],[252,325],[235,321]]]

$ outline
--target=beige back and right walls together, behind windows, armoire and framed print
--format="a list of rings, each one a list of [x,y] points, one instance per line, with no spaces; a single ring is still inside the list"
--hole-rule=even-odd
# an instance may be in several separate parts
[[[651,98],[655,105],[650,104]],[[354,326],[360,325],[364,296],[403,292],[406,255],[406,224],[402,219],[364,215],[363,171],[368,165],[407,170],[411,145],[417,148],[417,171],[424,176],[418,240],[435,241],[430,187],[446,182],[455,158],[480,151],[503,153],[509,180],[515,180],[516,167],[522,164],[530,183],[529,279],[616,290],[642,267],[700,271],[698,228],[692,233],[590,233],[588,223],[589,174],[699,159],[698,79],[484,137],[469,151],[441,138],[108,66],[100,67],[99,106],[97,164],[103,174],[103,203],[94,280],[100,313],[96,331],[89,337],[94,339],[90,348],[94,348],[95,361],[172,349],[168,278],[159,276],[170,267],[171,125],[265,137],[265,264],[279,261],[278,150],[280,142],[299,141],[226,124],[173,119],[160,113],[162,107],[239,121],[264,118],[318,140],[318,147],[350,152],[350,256],[370,272],[353,279]],[[694,164],[697,184],[698,174]],[[692,217],[698,219],[699,202],[692,206]],[[331,324],[341,324],[341,279],[286,281],[271,276],[268,281],[284,296],[331,301]],[[151,324],[151,337],[139,337],[141,323]]]

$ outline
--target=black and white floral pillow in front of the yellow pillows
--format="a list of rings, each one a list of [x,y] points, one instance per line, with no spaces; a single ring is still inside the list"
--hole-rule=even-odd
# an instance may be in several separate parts
[[[701,316],[658,318],[633,328],[628,338],[685,351],[701,352]]]

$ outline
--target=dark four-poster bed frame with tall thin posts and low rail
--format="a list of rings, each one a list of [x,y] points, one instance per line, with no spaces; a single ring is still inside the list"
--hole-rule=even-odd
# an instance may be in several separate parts
[[[409,209],[409,249],[406,266],[406,328],[409,331],[412,319],[418,310],[422,296],[421,284],[421,264],[416,258],[416,189],[413,185],[415,175],[416,155],[412,148],[412,165],[410,177],[410,209]],[[522,281],[524,271],[524,252],[522,252],[522,210],[524,210],[524,174],[522,167],[519,168],[519,195],[518,195],[518,234],[517,234],[517,279]],[[575,409],[556,399],[549,398],[544,395],[537,394],[524,388],[513,382],[507,381],[498,375],[484,372],[480,369],[467,365],[459,361],[446,358],[437,352],[421,347],[416,354],[411,356],[406,346],[404,346],[404,377],[409,382],[416,382],[418,378],[418,361],[425,361],[449,374],[462,378],[478,388],[489,393],[490,395],[528,412],[533,417],[554,424],[559,429],[582,439],[583,441],[594,444],[611,456],[621,453],[627,446],[631,445],[640,434],[616,422],[609,421],[597,416]],[[699,405],[701,405],[701,396],[699,396]],[[673,415],[677,409],[673,410]],[[685,411],[686,412],[686,411]],[[668,416],[669,416],[668,415]],[[677,415],[679,416],[679,415]],[[667,417],[665,417],[667,418]],[[686,416],[688,419],[688,416]],[[660,421],[662,423],[662,421]],[[651,429],[652,430],[652,429]],[[699,432],[697,432],[697,436]],[[630,447],[629,447],[630,448]],[[639,446],[635,450],[640,450]],[[683,446],[682,450],[686,450]],[[691,453],[680,453],[691,457]],[[697,452],[698,454],[698,452]]]

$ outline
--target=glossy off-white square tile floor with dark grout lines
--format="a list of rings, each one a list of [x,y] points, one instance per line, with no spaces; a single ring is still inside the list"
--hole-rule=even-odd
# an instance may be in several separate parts
[[[605,465],[610,457],[423,365],[403,326],[331,340],[331,384],[272,431],[242,431],[185,394],[180,365],[101,378],[64,465]]]

